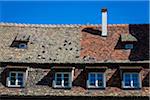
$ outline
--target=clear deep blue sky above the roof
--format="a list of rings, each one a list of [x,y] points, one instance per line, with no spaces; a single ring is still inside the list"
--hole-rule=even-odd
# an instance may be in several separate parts
[[[108,23],[149,23],[148,1],[0,1],[0,22],[33,24],[101,24],[101,8]]]

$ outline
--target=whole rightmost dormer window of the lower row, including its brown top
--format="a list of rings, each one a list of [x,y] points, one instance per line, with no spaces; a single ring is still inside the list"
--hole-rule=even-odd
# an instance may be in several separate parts
[[[120,66],[122,88],[139,89],[142,87],[140,66]]]

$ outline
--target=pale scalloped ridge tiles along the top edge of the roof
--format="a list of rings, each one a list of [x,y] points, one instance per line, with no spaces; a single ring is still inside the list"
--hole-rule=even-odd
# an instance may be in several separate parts
[[[28,27],[80,27],[80,26],[101,26],[101,24],[27,24],[0,22],[4,26],[28,26]],[[108,24],[108,26],[126,26],[128,24]]]

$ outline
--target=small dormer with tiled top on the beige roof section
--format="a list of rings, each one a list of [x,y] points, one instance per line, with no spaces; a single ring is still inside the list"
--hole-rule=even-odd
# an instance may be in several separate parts
[[[19,49],[27,49],[30,35],[28,34],[18,34],[11,44],[11,47],[16,47]]]

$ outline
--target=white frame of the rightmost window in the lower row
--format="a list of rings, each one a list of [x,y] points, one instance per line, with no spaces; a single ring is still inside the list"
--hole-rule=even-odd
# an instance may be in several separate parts
[[[125,86],[125,75],[126,75],[126,74],[130,74],[130,78],[131,78],[131,79],[132,79],[132,74],[137,74],[137,75],[138,75],[138,78],[139,78],[139,79],[138,79],[138,82],[139,82],[138,84],[139,84],[139,86],[138,86],[138,87],[134,87],[134,86],[133,86],[133,81],[130,82],[130,85],[131,85],[131,86]],[[124,72],[124,73],[123,73],[123,80],[122,80],[122,87],[123,87],[123,88],[135,88],[135,89],[136,89],[136,88],[141,88],[141,87],[142,87],[142,83],[141,83],[141,76],[140,76],[140,73],[138,73],[138,72]]]

